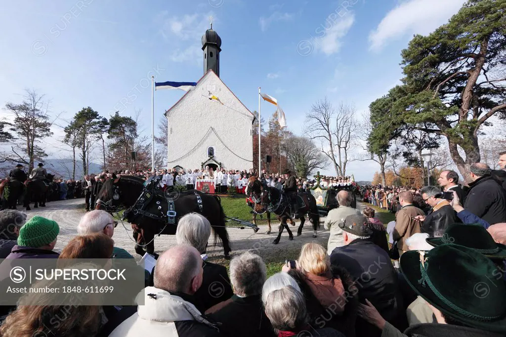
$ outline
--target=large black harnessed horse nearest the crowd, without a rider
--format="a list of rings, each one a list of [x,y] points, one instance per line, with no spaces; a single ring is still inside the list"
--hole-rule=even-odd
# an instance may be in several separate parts
[[[219,237],[223,242],[225,257],[228,257],[231,251],[229,236],[225,227],[225,214],[218,196],[195,190],[163,193],[158,188],[145,189],[145,183],[147,182],[142,178],[135,176],[109,179],[100,189],[95,207],[109,213],[126,209],[123,218],[132,224],[137,254],[144,255],[143,247],[145,247],[149,254],[155,255],[155,235],[176,234],[179,219],[188,213],[196,212],[209,220],[214,230],[215,244]],[[174,202],[172,210],[169,209],[167,197]],[[144,199],[142,209],[137,207],[138,199],[139,201]],[[167,217],[167,213],[172,219]],[[174,224],[169,224],[168,220],[172,220]]]

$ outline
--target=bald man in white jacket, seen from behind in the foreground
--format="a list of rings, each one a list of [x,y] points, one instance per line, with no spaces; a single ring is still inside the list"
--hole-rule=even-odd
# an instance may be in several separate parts
[[[202,258],[197,249],[180,244],[156,262],[154,287],[144,289],[144,305],[119,324],[109,336],[197,337],[220,336],[193,302],[202,284]],[[142,292],[141,292],[142,293]]]

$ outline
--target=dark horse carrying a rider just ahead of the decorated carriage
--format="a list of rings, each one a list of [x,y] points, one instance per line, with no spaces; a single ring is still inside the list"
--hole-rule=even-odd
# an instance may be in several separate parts
[[[313,237],[316,237],[316,230],[320,228],[320,215],[318,214],[316,199],[310,193],[298,193],[297,202],[302,203],[302,205],[299,206],[300,217],[297,218],[301,221],[299,229],[297,230],[297,236],[302,235],[302,228],[306,222],[306,218],[304,216],[307,214],[309,216],[309,221],[313,224]],[[283,229],[285,228],[288,232],[288,240],[293,240],[293,234],[291,233],[290,228],[286,223],[286,221],[289,220],[292,224],[294,224],[292,215],[290,214],[290,204],[286,196],[277,188],[262,187],[261,205],[263,206],[263,209],[274,213],[278,220],[281,222],[279,225],[278,236],[272,243],[279,243],[279,240],[281,239],[281,233],[283,233]]]

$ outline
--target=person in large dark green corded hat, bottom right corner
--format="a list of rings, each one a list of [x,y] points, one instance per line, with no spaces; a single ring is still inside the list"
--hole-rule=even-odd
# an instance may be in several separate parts
[[[484,230],[478,227],[474,230]],[[430,240],[434,244],[436,239]],[[407,251],[400,259],[406,281],[427,302],[437,323],[415,324],[402,334],[368,301],[359,305],[358,315],[381,329],[382,336],[504,336],[506,287],[498,268],[477,249],[456,243]]]

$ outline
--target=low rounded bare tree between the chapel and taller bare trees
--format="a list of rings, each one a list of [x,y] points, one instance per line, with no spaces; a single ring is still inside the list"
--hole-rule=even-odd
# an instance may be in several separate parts
[[[284,146],[290,166],[295,168],[300,177],[306,178],[317,168],[324,168],[328,164],[328,158],[307,137],[292,136],[286,139]]]

